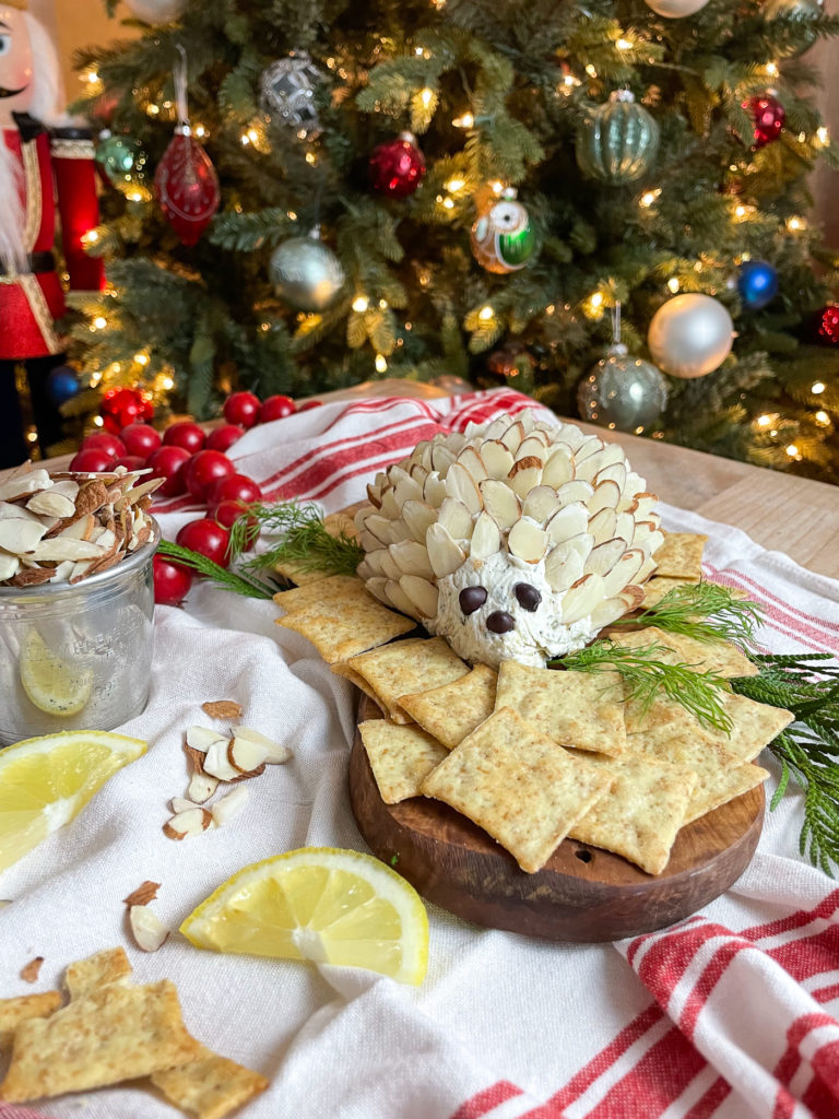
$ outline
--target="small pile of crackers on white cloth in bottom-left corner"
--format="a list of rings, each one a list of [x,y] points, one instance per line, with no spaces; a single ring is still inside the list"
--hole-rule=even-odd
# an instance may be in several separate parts
[[[135,986],[122,948],[65,971],[60,991],[0,999],[0,1054],[11,1053],[0,1100],[21,1103],[148,1078],[175,1107],[224,1119],[268,1081],[218,1056],[183,1025],[168,979]]]

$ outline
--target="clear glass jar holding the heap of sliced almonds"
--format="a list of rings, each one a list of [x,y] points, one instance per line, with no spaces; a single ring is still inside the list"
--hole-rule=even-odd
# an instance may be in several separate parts
[[[149,698],[152,558],[160,528],[78,583],[0,586],[0,745],[57,731],[111,731]]]

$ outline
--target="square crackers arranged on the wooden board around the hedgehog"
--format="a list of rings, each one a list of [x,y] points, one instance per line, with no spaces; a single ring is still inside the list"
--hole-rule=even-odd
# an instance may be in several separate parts
[[[698,583],[706,537],[668,534],[644,605]],[[279,624],[307,637],[332,671],[380,708],[360,724],[386,803],[433,797],[483,828],[534,873],[566,837],[623,856],[651,875],[667,867],[680,828],[761,784],[755,758],[793,715],[723,693],[732,731],[703,726],[680,704],[628,702],[616,671],[556,671],[505,661],[470,668],[353,576],[275,595]],[[733,645],[645,627],[616,645],[656,643],[660,659],[722,677],[754,675]],[[402,640],[394,640],[402,638]]]

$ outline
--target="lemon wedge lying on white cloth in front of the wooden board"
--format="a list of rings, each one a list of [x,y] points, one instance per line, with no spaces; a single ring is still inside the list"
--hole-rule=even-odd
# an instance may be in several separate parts
[[[368,968],[421,984],[428,916],[413,886],[357,850],[301,847],[234,874],[180,927],[196,946]]]

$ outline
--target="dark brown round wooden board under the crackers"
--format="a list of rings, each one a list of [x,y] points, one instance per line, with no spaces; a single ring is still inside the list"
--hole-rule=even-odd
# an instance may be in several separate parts
[[[380,717],[362,696],[358,721]],[[694,820],[654,877],[574,839],[563,840],[541,871],[526,874],[486,831],[439,800],[386,805],[358,731],[349,789],[370,849],[428,901],[491,929],[584,942],[662,929],[718,897],[748,865],[764,811],[758,786]]]

